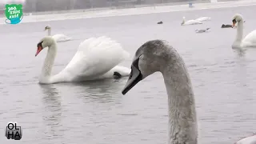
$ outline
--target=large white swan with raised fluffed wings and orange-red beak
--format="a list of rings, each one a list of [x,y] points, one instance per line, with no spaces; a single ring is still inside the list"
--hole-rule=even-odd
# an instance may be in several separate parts
[[[122,76],[130,74],[129,68],[117,66],[130,54],[123,50],[118,42],[114,42],[110,38],[89,38],[81,42],[77,53],[74,54],[66,68],[53,76],[51,70],[57,54],[57,43],[54,38],[50,36],[42,38],[38,42],[38,50],[35,56],[47,46],[48,53],[42,66],[39,83],[81,82],[100,78],[114,78],[114,72]]]

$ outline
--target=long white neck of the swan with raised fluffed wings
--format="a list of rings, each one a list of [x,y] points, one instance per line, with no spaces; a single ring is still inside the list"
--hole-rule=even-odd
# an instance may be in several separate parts
[[[48,48],[46,59],[42,66],[42,73],[39,78],[40,82],[47,83],[50,81],[51,71],[54,66],[54,59],[56,54],[57,54],[57,46],[56,46],[56,43],[54,42],[54,44]]]

